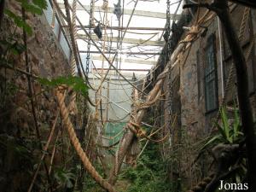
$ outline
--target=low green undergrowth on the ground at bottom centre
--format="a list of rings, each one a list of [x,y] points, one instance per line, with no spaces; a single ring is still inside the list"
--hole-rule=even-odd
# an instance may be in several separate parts
[[[120,174],[120,179],[131,183],[126,192],[171,191],[172,183],[166,181],[166,163],[160,158],[158,145],[148,143],[135,168],[128,167]]]

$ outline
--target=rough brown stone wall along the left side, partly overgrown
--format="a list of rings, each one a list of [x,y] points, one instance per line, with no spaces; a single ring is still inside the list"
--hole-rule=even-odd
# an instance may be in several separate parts
[[[21,16],[19,3],[7,1],[7,7]],[[26,22],[32,26],[27,38],[28,64],[33,75],[52,79],[70,73],[70,67],[52,28],[44,15],[26,14]],[[3,18],[1,40],[15,38],[22,44],[22,30],[7,17]],[[5,49],[1,44],[1,50]],[[3,52],[2,52],[3,54]],[[9,51],[5,58],[9,65],[26,71],[25,55]],[[0,191],[27,191],[33,169],[42,152],[38,148],[32,105],[28,95],[28,81],[24,73],[0,66]],[[32,79],[33,102],[41,141],[49,137],[53,120],[57,115],[57,103],[52,90],[43,89]],[[57,129],[60,128],[59,121]],[[56,133],[55,133],[56,134]],[[53,139],[54,140],[54,139]],[[52,142],[53,143],[53,142]],[[35,151],[32,151],[33,147]],[[48,155],[46,155],[49,159]],[[57,155],[58,156],[58,155]],[[46,158],[46,160],[47,160]],[[44,179],[41,173],[38,179]],[[36,188],[38,189],[38,185]],[[39,191],[39,189],[38,189]]]

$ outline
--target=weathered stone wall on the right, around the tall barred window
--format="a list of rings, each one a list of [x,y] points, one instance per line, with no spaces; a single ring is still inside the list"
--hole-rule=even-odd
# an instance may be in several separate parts
[[[241,25],[241,18],[243,15],[244,7],[236,6],[233,7],[232,10],[232,20],[236,26],[236,32],[238,33],[240,30]],[[201,9],[200,15],[205,13],[206,9]],[[247,51],[248,45],[252,41],[253,34],[256,34],[256,20],[255,20],[255,10],[251,9],[250,19],[247,20],[245,32],[243,38],[241,40],[241,45],[243,46],[244,51]],[[191,21],[190,25],[195,23],[195,19]],[[195,160],[196,156],[198,155],[198,147],[196,147],[196,143],[202,141],[202,139],[206,138],[210,131],[212,130],[212,119],[216,118],[218,113],[218,108],[210,113],[206,111],[206,104],[205,104],[205,90],[204,90],[204,81],[201,79],[202,83],[202,94],[199,96],[199,84],[198,84],[198,58],[197,58],[197,51],[201,50],[203,54],[201,54],[201,60],[203,64],[205,61],[205,49],[207,46],[207,39],[213,35],[215,37],[215,48],[216,48],[216,60],[217,60],[217,75],[218,75],[218,105],[220,106],[222,102],[223,96],[223,88],[222,88],[222,73],[221,73],[221,65],[220,65],[220,37],[218,32],[218,18],[215,17],[209,26],[207,26],[207,35],[205,37],[200,37],[192,43],[191,49],[187,50],[184,53],[184,58],[180,62],[178,67],[174,67],[172,69],[171,77],[172,77],[172,85],[175,86],[174,79],[179,78],[180,82],[180,89],[179,91],[172,92],[173,98],[176,96],[180,96],[180,121],[181,125],[179,127],[172,127],[172,135],[178,135],[177,132],[179,131],[181,136],[179,136],[182,140],[183,145],[180,147],[182,148],[181,154],[178,154],[178,163],[173,163],[172,166],[178,166],[176,170],[182,172],[179,176],[182,178],[183,182],[186,183],[185,185],[189,187],[191,183],[195,184],[200,181],[201,177],[207,175],[209,170],[206,169],[206,161],[205,165],[201,164],[201,160],[198,160],[194,166],[190,166],[193,164],[193,160]],[[183,34],[184,38],[185,34]],[[224,32],[221,32],[223,46],[223,59],[224,59],[224,86],[226,84],[227,74],[229,73],[230,64],[231,64],[231,57],[230,57],[230,48],[226,42]],[[183,39],[182,38],[182,39]],[[187,56],[188,55],[188,56]],[[187,56],[187,57],[186,57]],[[251,101],[253,107],[253,115],[255,117],[255,49],[253,48],[253,52],[249,55],[247,60],[248,66],[248,73],[249,73],[249,86],[251,92]],[[204,65],[203,65],[204,66]],[[205,68],[202,69],[203,71]],[[168,82],[170,79],[166,79],[166,83],[164,86],[165,91],[169,91],[168,89]],[[177,81],[178,82],[178,81]],[[177,83],[176,83],[177,84]],[[228,90],[228,102],[230,102],[230,106],[232,106],[231,102],[233,102],[234,98],[236,99],[236,79],[233,79],[233,90]],[[168,97],[167,97],[168,98]],[[165,111],[165,119],[166,119],[166,129],[169,129],[169,116],[168,116],[168,102],[166,102],[166,111]],[[175,106],[176,103],[173,104]],[[174,110],[172,115],[175,113],[179,113],[179,110]],[[178,136],[177,136],[178,137]],[[172,139],[172,148],[175,148],[175,138]],[[172,151],[170,152],[172,155]],[[209,162],[210,163],[210,162]],[[173,170],[173,168],[172,168]],[[174,167],[175,170],[175,167]],[[190,186],[191,187],[191,186]]]

